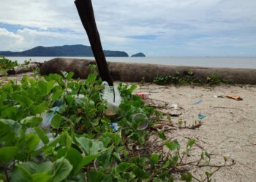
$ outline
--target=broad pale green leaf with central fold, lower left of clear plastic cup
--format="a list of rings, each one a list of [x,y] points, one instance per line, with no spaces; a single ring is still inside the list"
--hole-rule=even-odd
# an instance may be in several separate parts
[[[76,140],[88,155],[97,154],[104,148],[102,141],[91,140],[85,137],[76,138]]]

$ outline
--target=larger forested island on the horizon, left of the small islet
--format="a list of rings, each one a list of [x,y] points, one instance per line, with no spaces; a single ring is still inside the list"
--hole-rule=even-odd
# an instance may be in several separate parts
[[[124,51],[104,50],[106,57],[129,57]],[[64,45],[54,47],[34,47],[23,52],[0,51],[4,56],[86,56],[93,57],[91,47],[85,45]]]

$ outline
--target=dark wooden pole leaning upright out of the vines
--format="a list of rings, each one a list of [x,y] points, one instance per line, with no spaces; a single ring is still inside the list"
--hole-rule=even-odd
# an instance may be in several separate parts
[[[91,44],[91,50],[94,53],[94,58],[99,69],[99,76],[103,81],[106,81],[110,86],[113,86],[113,79],[110,76],[108,64],[102,49],[91,0],[75,0],[75,6],[78,9],[78,14],[83,23],[83,27],[86,29]]]

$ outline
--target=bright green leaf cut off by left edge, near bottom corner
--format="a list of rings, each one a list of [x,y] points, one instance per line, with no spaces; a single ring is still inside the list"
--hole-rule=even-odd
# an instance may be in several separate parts
[[[7,146],[0,148],[0,162],[10,162],[18,153],[18,146]]]

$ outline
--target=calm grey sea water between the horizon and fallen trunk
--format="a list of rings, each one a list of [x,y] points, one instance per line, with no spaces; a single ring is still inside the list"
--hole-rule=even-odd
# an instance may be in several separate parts
[[[10,60],[18,60],[23,63],[24,60],[35,60],[44,62],[56,57],[7,57]],[[83,58],[93,59],[92,57],[64,57],[64,58]],[[256,57],[108,57],[108,61],[127,62],[127,63],[151,63],[174,66],[201,66],[217,68],[256,68]]]

